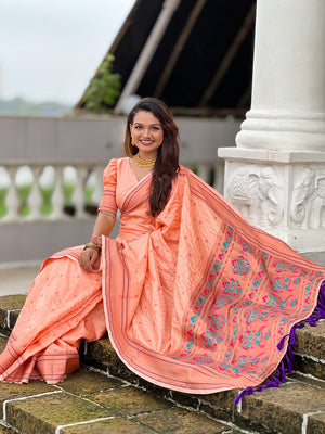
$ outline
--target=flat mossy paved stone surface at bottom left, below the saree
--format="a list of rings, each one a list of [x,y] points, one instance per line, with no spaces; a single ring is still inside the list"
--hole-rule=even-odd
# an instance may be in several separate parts
[[[205,414],[179,408],[161,396],[86,368],[54,386],[31,381],[28,385],[1,384],[2,391],[0,405],[5,408],[9,427],[0,425],[1,434],[240,432]],[[18,431],[11,431],[10,426]]]

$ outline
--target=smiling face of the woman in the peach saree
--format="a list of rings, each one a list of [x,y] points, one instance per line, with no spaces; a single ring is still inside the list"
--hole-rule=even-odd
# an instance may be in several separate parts
[[[160,122],[152,112],[138,112],[133,124],[130,125],[133,144],[139,149],[139,155],[144,158],[154,158],[164,140],[164,130]]]

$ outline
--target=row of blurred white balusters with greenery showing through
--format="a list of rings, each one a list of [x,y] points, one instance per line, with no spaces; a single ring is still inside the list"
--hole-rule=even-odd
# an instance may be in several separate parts
[[[185,164],[222,193],[223,163]],[[0,167],[0,225],[87,219],[102,191],[102,163],[5,163]]]

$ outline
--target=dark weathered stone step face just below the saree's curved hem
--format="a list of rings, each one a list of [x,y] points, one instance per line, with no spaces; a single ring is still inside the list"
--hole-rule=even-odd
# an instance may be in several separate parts
[[[280,387],[245,396],[239,405],[235,405],[238,391],[191,395],[167,391],[140,379],[119,360],[107,337],[88,344],[84,353],[81,359],[86,363],[249,432],[325,433],[325,381],[313,379],[312,375],[295,373]],[[303,431],[307,426],[308,430]]]

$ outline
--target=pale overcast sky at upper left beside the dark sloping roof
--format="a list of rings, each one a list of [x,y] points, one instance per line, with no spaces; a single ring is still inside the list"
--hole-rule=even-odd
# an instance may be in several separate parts
[[[79,101],[135,0],[0,0],[0,99]]]

